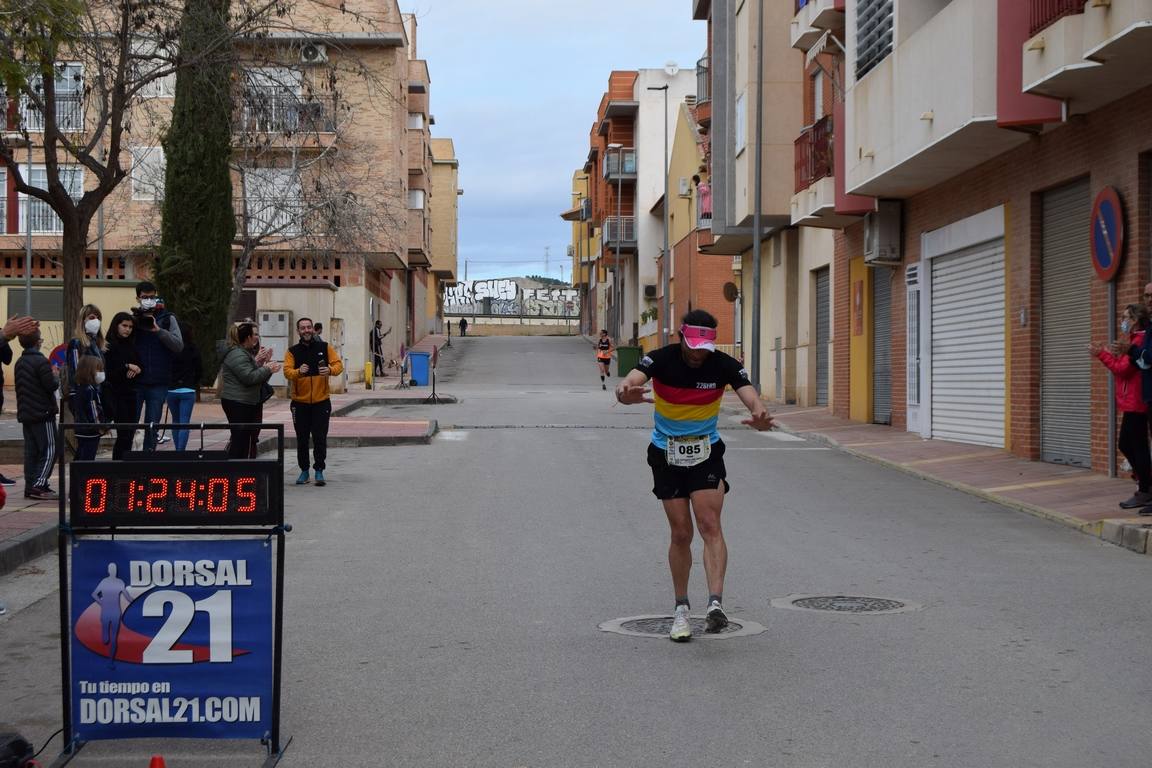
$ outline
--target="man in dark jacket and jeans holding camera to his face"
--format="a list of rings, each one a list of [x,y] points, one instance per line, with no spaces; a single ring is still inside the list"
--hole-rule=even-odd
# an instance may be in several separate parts
[[[141,358],[141,373],[136,385],[136,418],[144,409],[144,423],[157,424],[164,417],[164,402],[172,383],[172,362],[184,349],[176,315],[164,307],[156,286],[149,281],[136,283],[132,318],[136,321],[136,351]],[[144,450],[156,450],[156,431],[144,431]]]

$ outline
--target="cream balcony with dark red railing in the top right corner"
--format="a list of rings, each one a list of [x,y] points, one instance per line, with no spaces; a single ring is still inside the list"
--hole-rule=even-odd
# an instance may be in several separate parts
[[[1030,2],[1039,29],[1022,51],[1025,92],[1083,114],[1152,85],[1152,0]]]

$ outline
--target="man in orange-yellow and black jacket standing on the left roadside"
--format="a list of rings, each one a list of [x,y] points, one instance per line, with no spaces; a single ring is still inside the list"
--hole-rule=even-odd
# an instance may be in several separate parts
[[[285,378],[291,393],[291,424],[296,429],[296,463],[300,477],[296,485],[309,481],[309,443],[313,449],[316,485],[326,484],[324,459],[328,455],[328,419],[332,401],[328,397],[328,377],[338,377],[344,364],[328,343],[317,339],[311,318],[296,321],[300,343],[285,353]]]

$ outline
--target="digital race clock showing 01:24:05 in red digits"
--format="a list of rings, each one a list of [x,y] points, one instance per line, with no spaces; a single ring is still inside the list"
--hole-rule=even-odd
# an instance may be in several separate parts
[[[279,525],[279,462],[73,462],[73,527]]]

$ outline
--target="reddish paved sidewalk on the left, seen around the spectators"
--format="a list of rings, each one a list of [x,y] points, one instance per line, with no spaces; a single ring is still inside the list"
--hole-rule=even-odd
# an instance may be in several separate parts
[[[427,336],[414,349],[429,351],[444,344],[445,336]],[[328,446],[363,447],[363,446],[397,446],[427,444],[437,432],[434,419],[380,419],[356,418],[358,408],[370,405],[403,405],[424,402],[432,394],[431,387],[412,387],[396,389],[400,383],[397,371],[378,379],[373,389],[365,389],[364,383],[349,385],[349,391],[332,395],[332,421],[328,428]],[[455,398],[437,393],[440,402],[452,403]],[[288,450],[286,472],[296,473],[291,449],[296,447],[291,428],[291,411],[286,397],[273,397],[264,404],[265,424],[285,425],[285,448]],[[226,424],[227,419],[214,395],[205,395],[192,410],[194,424]],[[0,576],[15,570],[23,563],[38,557],[56,546],[56,523],[60,507],[55,501],[36,502],[24,499],[23,432],[16,423],[14,413],[0,417],[0,473],[16,480],[16,485],[6,488],[8,502],[0,509]],[[222,450],[228,441],[227,429],[204,432],[204,448]],[[268,431],[260,435],[260,450],[274,450],[274,438]],[[199,433],[192,431],[188,441],[189,448],[200,446]],[[101,457],[112,449],[112,439],[101,441]],[[172,442],[159,446],[159,450],[172,450]],[[56,473],[53,472],[52,488],[59,489]]]

